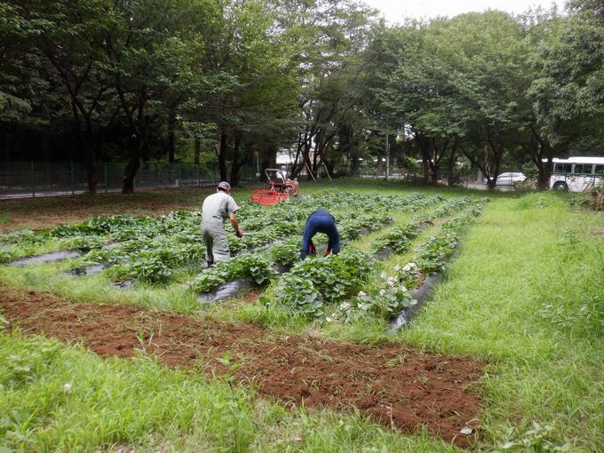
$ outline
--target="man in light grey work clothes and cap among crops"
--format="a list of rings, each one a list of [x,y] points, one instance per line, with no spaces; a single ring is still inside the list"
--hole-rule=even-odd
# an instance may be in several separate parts
[[[231,193],[231,185],[227,181],[220,182],[216,187],[216,194],[209,195],[203,200],[202,206],[202,234],[205,242],[205,257],[208,267],[214,263],[229,258],[231,250],[228,249],[225,220],[231,220],[235,234],[242,237],[239,222],[234,213],[239,211]]]

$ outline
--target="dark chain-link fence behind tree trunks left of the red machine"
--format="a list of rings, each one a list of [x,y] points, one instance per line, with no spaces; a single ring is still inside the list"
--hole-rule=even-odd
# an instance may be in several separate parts
[[[122,189],[125,163],[98,163],[98,192]],[[230,168],[230,165],[228,165]],[[213,186],[218,164],[141,163],[135,188]],[[256,167],[242,168],[242,182],[258,180]],[[88,173],[79,162],[0,162],[0,199],[81,194],[88,190]]]

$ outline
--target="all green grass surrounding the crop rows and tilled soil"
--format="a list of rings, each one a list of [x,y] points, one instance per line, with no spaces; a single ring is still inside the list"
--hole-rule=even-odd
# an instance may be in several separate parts
[[[484,195],[350,180],[302,190]],[[76,196],[68,198],[77,208],[67,219],[81,219],[86,211],[107,213],[114,204],[116,211],[136,214],[197,207],[203,195],[194,190],[163,191],[135,195],[127,203],[121,195],[107,195],[110,201],[105,195]],[[235,193],[235,199],[248,195],[249,189]],[[243,298],[200,310],[195,297],[179,284],[110,290],[101,276],[78,284],[57,274],[65,263],[0,266],[0,283],[50,290],[73,302],[257,322],[280,335],[371,345],[393,341],[430,353],[472,356],[487,364],[478,385],[479,436],[472,449],[604,451],[604,216],[575,211],[569,199],[552,193],[491,196],[465,233],[431,300],[410,328],[393,335],[385,333],[384,321],[307,322]],[[50,199],[11,202],[13,210],[6,206],[0,205],[0,219],[11,230],[39,226],[35,211],[47,222],[66,219],[57,212],[61,204]],[[403,222],[409,216],[393,212],[393,217]],[[435,223],[417,236],[411,249],[440,230]],[[377,234],[355,244],[368,249]],[[388,271],[411,259],[410,252],[393,256],[372,272]],[[8,320],[0,317],[0,330],[3,325]],[[4,330],[0,452],[458,449],[427,430],[409,434],[389,429],[363,417],[358,409],[309,409],[267,399],[253,383],[234,380],[238,365],[228,357],[223,365],[232,366],[232,372],[208,377],[195,368],[164,366],[145,354],[144,340],[138,356],[124,361],[102,359],[82,345],[65,346],[52,338]]]

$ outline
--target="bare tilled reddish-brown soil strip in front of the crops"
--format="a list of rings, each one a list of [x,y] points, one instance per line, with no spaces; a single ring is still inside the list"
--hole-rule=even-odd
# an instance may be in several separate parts
[[[378,423],[417,432],[422,426],[460,447],[475,434],[476,394],[484,363],[426,354],[396,344],[362,346],[279,336],[250,323],[216,322],[131,306],[72,304],[47,293],[0,287],[0,310],[26,334],[83,341],[103,356],[155,354],[171,367],[236,382],[285,403],[359,409]],[[238,366],[232,366],[238,365]]]

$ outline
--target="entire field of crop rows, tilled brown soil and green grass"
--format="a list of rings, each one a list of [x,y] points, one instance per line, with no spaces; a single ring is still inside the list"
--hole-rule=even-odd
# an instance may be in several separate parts
[[[196,258],[160,258],[166,274],[133,272],[128,289],[112,284],[129,253],[141,256],[137,238],[173,244],[185,232],[187,242],[198,214],[3,236],[0,282],[12,289],[0,287],[0,447],[604,449],[601,216],[552,194],[497,195],[484,210],[445,195],[246,205],[250,243],[230,238],[224,274]],[[300,262],[296,239],[318,207],[337,211],[346,246]],[[298,229],[251,242],[283,219]],[[101,233],[74,232],[95,222]],[[161,251],[155,242],[147,250]],[[93,259],[114,248],[123,258]],[[9,264],[57,251],[78,255]],[[409,324],[443,267],[446,279]],[[246,278],[257,287],[241,297],[198,299]],[[389,329],[394,318],[410,328]]]

